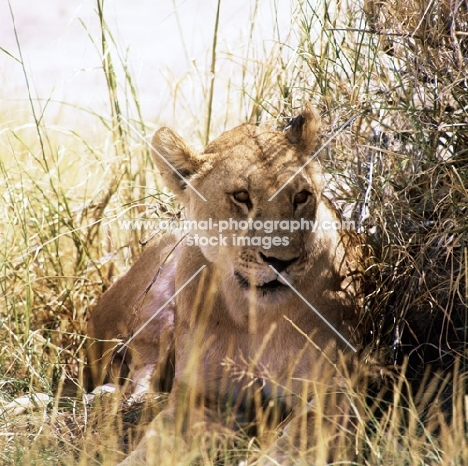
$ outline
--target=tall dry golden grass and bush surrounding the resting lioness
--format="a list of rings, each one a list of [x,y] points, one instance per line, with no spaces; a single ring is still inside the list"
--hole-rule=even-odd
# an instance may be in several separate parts
[[[256,7],[254,2],[248,37]],[[96,115],[104,142],[96,146],[79,131],[63,135],[47,126],[47,108],[38,106],[29,85],[31,121],[7,121],[1,129],[0,402],[54,395],[47,409],[28,415],[0,407],[5,464],[113,464],[141,436],[137,424],[144,426],[165,400],[156,396],[129,408],[118,397],[104,397],[87,407],[80,396],[89,309],[148,237],[122,232],[115,220],[177,213],[145,170],[147,147],[126,123],[148,131],[130,58],[120,52],[101,0],[97,15],[100,36],[89,35],[109,92],[109,113]],[[304,0],[286,36],[273,25],[273,48],[249,45],[242,56],[217,43],[219,21],[208,73],[194,66],[190,76],[208,90],[198,91],[202,99],[191,91],[205,106],[191,101],[183,83],[171,87],[174,107],[197,128],[200,141],[214,133],[215,117],[217,130],[234,114],[239,122],[277,118],[281,126],[302,100],[318,107],[324,137],[357,116],[322,162],[327,194],[373,246],[364,360],[379,374],[367,390],[350,383],[350,406],[363,408],[356,409],[356,431],[339,430],[334,442],[348,445],[352,436],[358,464],[466,463],[466,4],[368,0],[314,6]],[[20,52],[20,42],[18,47]],[[19,56],[25,69],[21,53],[6,52]],[[220,56],[240,81],[218,79]],[[227,109],[215,115],[215,76],[216,92],[232,104],[226,106],[229,115]],[[261,448],[225,432],[199,440],[187,461],[210,464],[215,448],[219,463],[231,464]],[[317,458],[324,458],[324,445]],[[334,451],[336,462],[342,453]]]

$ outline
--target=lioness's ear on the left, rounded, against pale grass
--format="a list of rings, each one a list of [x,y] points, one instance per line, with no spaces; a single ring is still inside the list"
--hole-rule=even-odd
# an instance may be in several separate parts
[[[200,157],[179,135],[166,127],[154,133],[151,146],[151,154],[164,184],[182,200],[187,187],[185,180],[200,168]]]

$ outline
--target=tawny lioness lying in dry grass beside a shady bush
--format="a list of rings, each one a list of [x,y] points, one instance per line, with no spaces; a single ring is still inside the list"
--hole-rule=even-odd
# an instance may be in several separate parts
[[[241,125],[201,154],[168,128],[154,134],[163,181],[197,225],[178,246],[163,237],[146,251],[90,319],[94,338],[130,337],[129,377],[147,386],[156,359],[167,360],[175,312],[168,405],[125,464],[170,464],[183,454],[174,442],[190,441],[207,423],[259,434],[260,419],[276,426],[294,410],[310,424],[314,381],[334,377],[340,353],[355,351],[361,249],[322,194],[320,165],[311,160],[317,128],[306,105],[283,132]],[[132,339],[156,311],[151,330]],[[90,354],[100,381],[102,357],[102,349]],[[286,427],[270,453],[307,448],[298,426]]]

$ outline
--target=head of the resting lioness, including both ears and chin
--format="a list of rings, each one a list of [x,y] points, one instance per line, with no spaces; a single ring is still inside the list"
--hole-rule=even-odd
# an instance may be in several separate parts
[[[239,288],[257,305],[287,299],[292,291],[286,282],[300,285],[320,240],[311,238],[322,195],[320,167],[310,161],[316,140],[310,110],[286,132],[234,128],[202,154],[167,128],[154,136],[163,178],[197,222],[190,244],[218,265],[223,286]]]

